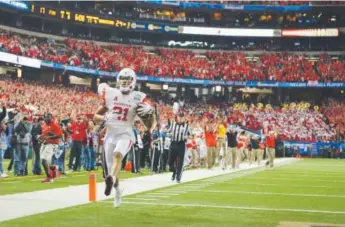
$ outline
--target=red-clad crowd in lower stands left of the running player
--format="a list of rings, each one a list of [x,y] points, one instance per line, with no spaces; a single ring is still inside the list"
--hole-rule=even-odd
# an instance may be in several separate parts
[[[89,113],[97,106],[99,97],[89,88],[62,85],[45,85],[31,81],[13,81],[1,78],[0,100],[7,108],[17,108],[32,120],[33,116],[52,113],[59,119],[68,118],[72,110]],[[61,108],[64,107],[64,108]]]

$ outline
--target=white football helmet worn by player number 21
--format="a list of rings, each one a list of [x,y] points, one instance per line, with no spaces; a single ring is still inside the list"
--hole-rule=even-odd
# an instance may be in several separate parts
[[[130,68],[122,69],[117,75],[116,86],[124,94],[128,94],[134,90],[137,75]]]

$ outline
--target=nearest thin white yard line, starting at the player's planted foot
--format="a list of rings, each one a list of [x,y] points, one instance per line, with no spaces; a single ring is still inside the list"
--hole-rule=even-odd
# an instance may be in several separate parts
[[[112,201],[107,201],[112,202]],[[270,207],[246,207],[246,206],[226,206],[212,204],[193,204],[193,203],[158,203],[158,202],[123,202],[125,204],[135,205],[151,205],[151,206],[176,206],[176,207],[202,207],[202,208],[219,208],[219,209],[235,209],[235,210],[262,210],[262,211],[280,211],[280,212],[305,212],[305,213],[323,213],[323,214],[345,214],[344,211],[331,210],[302,210],[288,208],[270,208]]]

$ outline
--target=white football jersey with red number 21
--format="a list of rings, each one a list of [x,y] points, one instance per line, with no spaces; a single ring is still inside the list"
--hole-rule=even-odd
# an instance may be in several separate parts
[[[109,87],[107,84],[100,84],[98,92],[108,109],[105,123],[107,133],[135,141],[133,123],[137,115],[136,110],[138,105],[144,102],[146,95],[139,91],[124,95],[119,89]]]

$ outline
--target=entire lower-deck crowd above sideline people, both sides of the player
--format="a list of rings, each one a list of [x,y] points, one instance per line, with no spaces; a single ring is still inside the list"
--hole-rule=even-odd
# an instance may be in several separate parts
[[[17,109],[32,120],[44,113],[52,113],[57,119],[70,118],[72,110],[86,117],[92,116],[92,110],[98,105],[99,97],[89,88],[62,85],[44,85],[39,82],[14,81],[1,78],[0,101],[8,109]],[[5,86],[6,85],[6,86]],[[315,141],[331,140],[335,136],[334,128],[343,133],[345,105],[340,101],[328,100],[322,107],[311,107],[309,103],[282,104],[278,107],[262,103],[247,105],[245,103],[209,105],[205,103],[186,104],[183,111],[188,113],[190,122],[202,118],[217,118],[229,115],[227,123],[237,124],[259,131],[265,124],[274,125],[274,130],[286,140]],[[327,106],[327,108],[326,108]],[[62,108],[63,107],[63,108]],[[172,119],[174,113],[171,105],[161,102],[158,105],[162,121]],[[330,124],[326,123],[326,117]],[[290,122],[291,124],[286,124]],[[303,129],[297,135],[294,129]]]

